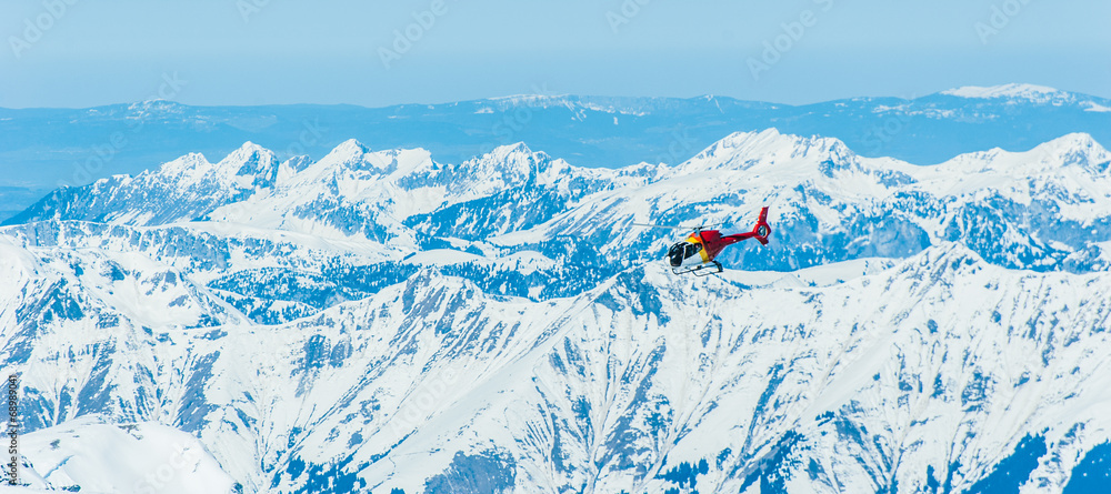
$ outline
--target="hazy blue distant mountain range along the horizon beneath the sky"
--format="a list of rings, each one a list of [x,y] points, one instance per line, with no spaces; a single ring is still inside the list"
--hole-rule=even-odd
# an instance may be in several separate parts
[[[138,174],[191,152],[216,159],[247,141],[283,160],[319,159],[358,139],[371,149],[419,147],[442,162],[461,163],[523,141],[585,168],[675,165],[730,133],[768,128],[837,138],[864,157],[929,164],[995,147],[1025,151],[1073,132],[1107,144],[1111,101],[1008,84],[798,107],[724,97],[536,94],[374,109],[189,107],[162,100],[81,110],[0,109],[0,186],[38,192],[83,185]],[[0,210],[11,211],[6,201],[20,199],[0,196]]]

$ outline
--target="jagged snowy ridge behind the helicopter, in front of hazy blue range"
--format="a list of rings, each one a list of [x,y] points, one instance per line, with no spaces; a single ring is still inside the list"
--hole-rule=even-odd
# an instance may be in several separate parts
[[[266,172],[253,174],[261,162]],[[964,239],[1007,266],[1084,271],[1102,265],[1097,260],[1105,253],[1103,242],[1111,241],[1111,201],[1100,192],[1111,186],[1111,153],[1082,133],[1024,153],[997,149],[937,165],[860,157],[837,139],[774,129],[730,134],[674,168],[587,169],[523,143],[444,164],[423,149],[370,151],[354,140],[314,163],[278,163],[273,153],[244,144],[213,165],[219,177],[211,170],[182,172],[178,163],[138,178],[56,191],[6,224],[53,219],[209,223],[232,231],[253,225],[369,240],[389,245],[398,256],[421,245],[483,250],[491,241],[504,249],[559,238],[582,238],[602,252],[620,252],[664,246],[651,232],[620,233],[632,223],[744,229],[751,219],[738,212],[772,205],[782,239],[770,246],[775,261],[727,259],[742,264],[763,259],[758,268],[781,270],[824,262],[803,253],[809,249],[845,252],[858,243],[849,251],[855,254],[835,259],[843,261],[877,253],[904,256],[931,243]],[[144,199],[151,191],[161,191],[158,201]],[[1011,211],[1014,220],[1000,211]],[[1039,211],[1067,222],[1039,218]],[[969,234],[983,238],[973,241]],[[998,258],[998,242],[1017,253]],[[542,254],[561,255],[558,250]]]

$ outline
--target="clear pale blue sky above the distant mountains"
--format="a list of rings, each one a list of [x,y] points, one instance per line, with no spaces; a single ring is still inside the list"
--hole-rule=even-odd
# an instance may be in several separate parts
[[[6,1],[0,107],[160,92],[203,105],[533,92],[799,104],[1008,82],[1111,98],[1109,20],[1105,0]]]

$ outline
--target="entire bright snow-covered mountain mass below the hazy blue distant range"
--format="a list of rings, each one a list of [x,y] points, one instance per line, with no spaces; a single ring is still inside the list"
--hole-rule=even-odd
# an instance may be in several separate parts
[[[248,143],[58,190],[0,228],[24,478],[122,488],[149,472],[66,444],[192,436],[243,492],[1101,492],[1109,163],[765,130],[612,170]],[[765,204],[709,279],[632,225]]]

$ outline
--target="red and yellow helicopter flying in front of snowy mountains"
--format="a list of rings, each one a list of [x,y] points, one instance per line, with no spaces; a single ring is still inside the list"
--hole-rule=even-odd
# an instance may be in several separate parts
[[[668,250],[668,263],[671,264],[672,273],[694,273],[695,276],[708,276],[724,271],[721,263],[714,261],[713,258],[717,258],[725,246],[748,239],[755,239],[761,245],[767,245],[768,235],[771,234],[771,225],[768,224],[768,208],[760,210],[760,216],[757,219],[757,224],[752,228],[751,232],[734,233],[724,236],[718,230],[703,230],[705,225],[669,226],[661,224],[633,224],[638,226],[692,230],[690,236],[675,243]],[[703,272],[702,270],[710,266],[714,266],[718,270],[708,270],[705,274],[700,274]]]

